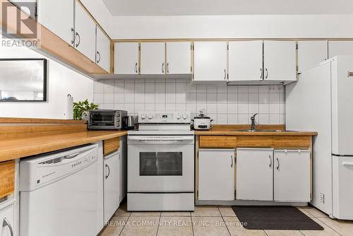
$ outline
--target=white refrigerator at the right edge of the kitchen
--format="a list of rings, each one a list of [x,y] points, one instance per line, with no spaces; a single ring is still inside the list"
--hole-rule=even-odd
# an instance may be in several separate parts
[[[328,59],[286,86],[286,126],[313,138],[311,204],[353,220],[353,56]]]

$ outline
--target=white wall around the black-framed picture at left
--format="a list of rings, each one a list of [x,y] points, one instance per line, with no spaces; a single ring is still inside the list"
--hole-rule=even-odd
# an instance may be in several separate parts
[[[0,47],[0,58],[45,58],[25,47]],[[0,78],[4,79],[4,78]],[[0,117],[64,119],[66,96],[93,98],[93,81],[56,61],[48,61],[47,102],[0,102]],[[0,88],[1,90],[1,88]]]

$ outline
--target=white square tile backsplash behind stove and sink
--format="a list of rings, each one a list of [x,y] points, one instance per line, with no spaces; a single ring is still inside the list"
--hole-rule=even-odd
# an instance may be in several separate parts
[[[283,85],[191,84],[185,79],[107,79],[95,81],[94,101],[101,109],[141,111],[203,110],[214,124],[285,124]]]

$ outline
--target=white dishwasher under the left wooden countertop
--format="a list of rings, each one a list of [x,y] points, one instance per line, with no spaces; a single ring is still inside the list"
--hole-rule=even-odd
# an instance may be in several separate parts
[[[20,161],[20,236],[97,235],[97,147]]]

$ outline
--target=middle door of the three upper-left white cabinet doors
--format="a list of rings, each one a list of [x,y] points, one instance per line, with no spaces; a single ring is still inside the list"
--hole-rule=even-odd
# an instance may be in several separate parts
[[[78,1],[75,9],[75,47],[91,61],[95,61],[95,23]]]

